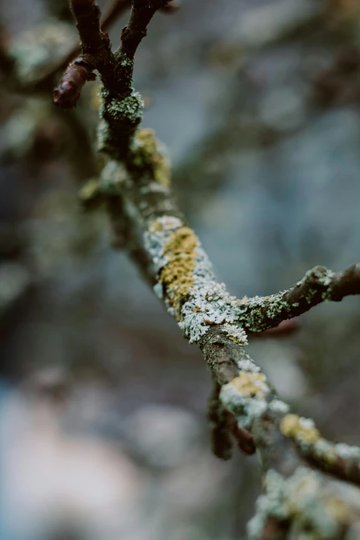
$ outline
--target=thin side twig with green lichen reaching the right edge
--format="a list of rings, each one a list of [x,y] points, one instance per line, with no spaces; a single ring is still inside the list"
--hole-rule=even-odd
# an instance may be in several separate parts
[[[243,326],[252,332],[262,332],[278,326],[281,321],[298,317],[318,303],[339,302],[350,294],[360,294],[360,264],[353,264],[343,272],[315,266],[289,290],[269,297],[245,299]]]

